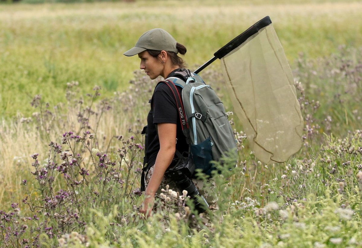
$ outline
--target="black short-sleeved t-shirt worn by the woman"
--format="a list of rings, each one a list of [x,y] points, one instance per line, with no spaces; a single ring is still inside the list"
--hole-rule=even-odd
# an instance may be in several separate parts
[[[171,74],[167,77],[177,76],[174,75],[173,72],[171,72]],[[180,87],[176,88],[181,96],[182,89]],[[156,87],[153,93],[153,109],[151,109],[147,115],[146,158],[148,160],[148,168],[155,164],[157,154],[160,150],[160,141],[157,134],[158,123],[176,124],[176,150],[181,152],[181,154],[185,151],[189,151],[186,138],[182,133],[182,126],[180,122],[180,115],[177,110],[176,100],[173,96],[172,90],[167,86],[167,84],[160,84]]]

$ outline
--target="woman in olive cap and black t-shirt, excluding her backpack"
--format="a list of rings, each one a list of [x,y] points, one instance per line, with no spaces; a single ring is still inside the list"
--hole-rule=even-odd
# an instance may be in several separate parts
[[[144,33],[134,48],[123,53],[126,56],[138,54],[141,59],[140,69],[150,79],[162,76],[164,79],[174,76],[175,72],[184,70],[185,62],[177,56],[186,53],[185,46],[165,30],[155,28]],[[177,87],[179,88],[179,87]],[[181,89],[178,89],[181,94]],[[186,139],[182,133],[176,101],[172,90],[161,84],[153,93],[151,111],[147,116],[146,137],[146,191],[140,212],[150,216],[164,174],[170,166],[176,149],[181,153],[188,151]],[[176,190],[176,189],[174,189]]]

